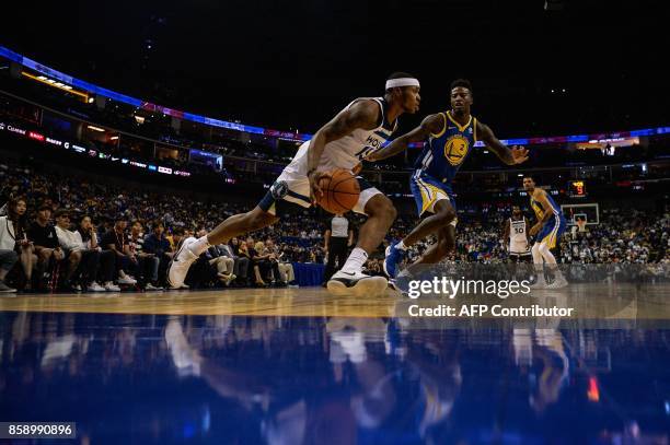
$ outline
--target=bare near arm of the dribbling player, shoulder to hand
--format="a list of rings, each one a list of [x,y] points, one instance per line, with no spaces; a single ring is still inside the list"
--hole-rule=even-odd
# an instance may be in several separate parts
[[[358,128],[365,130],[377,128],[379,113],[377,102],[360,101],[339,113],[333,120],[316,131],[308,150],[308,178],[310,179],[312,201],[315,200],[315,197],[323,196],[323,191],[319,187],[319,179],[324,176],[324,173],[316,172],[316,167],[319,167],[319,161],[323,155],[326,143],[342,139]]]

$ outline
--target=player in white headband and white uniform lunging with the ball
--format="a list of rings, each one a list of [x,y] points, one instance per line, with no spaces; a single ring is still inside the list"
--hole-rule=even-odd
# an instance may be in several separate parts
[[[354,171],[390,139],[397,128],[398,116],[418,112],[419,102],[419,82],[407,73],[392,74],[386,80],[383,97],[361,97],[351,102],[300,147],[258,206],[230,216],[206,236],[184,241],[168,269],[170,285],[181,288],[193,261],[210,245],[228,243],[233,236],[277,222],[277,206],[282,202],[312,206],[315,197],[323,196],[319,180],[326,172],[333,168]],[[396,211],[386,196],[362,177],[357,176],[357,179],[361,192],[353,210],[368,215],[368,220],[360,227],[358,244],[343,268],[327,282],[327,288],[333,293],[372,295],[384,291],[388,281],[383,277],[363,274],[362,265],[383,241]]]

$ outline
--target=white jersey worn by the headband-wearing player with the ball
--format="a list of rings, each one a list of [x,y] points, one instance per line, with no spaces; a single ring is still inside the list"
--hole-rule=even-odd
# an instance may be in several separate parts
[[[351,105],[359,101],[374,101],[381,109],[380,126],[373,130],[357,128],[350,134],[345,136],[333,142],[326,143],[319,166],[320,172],[327,172],[334,168],[345,168],[350,171],[362,159],[382,148],[391,139],[391,134],[397,128],[397,119],[393,124],[386,122],[386,101],[383,97],[359,97],[347,105],[342,112],[349,109]],[[310,141],[305,141],[293,160],[286,166],[284,172],[305,176],[308,172],[308,149]]]

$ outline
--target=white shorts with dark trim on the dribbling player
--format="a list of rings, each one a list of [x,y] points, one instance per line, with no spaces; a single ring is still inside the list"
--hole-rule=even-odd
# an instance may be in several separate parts
[[[353,211],[356,213],[366,214],[366,204],[374,195],[381,195],[382,192],[372,187],[370,183],[363,179],[361,176],[356,176],[358,184],[360,185],[360,196],[358,202],[354,206]],[[287,172],[281,172],[281,175],[277,178],[275,184],[270,187],[269,191],[258,203],[258,207],[266,212],[276,215],[277,214],[277,201],[288,201],[302,207],[311,207],[310,201],[310,180],[307,176]]]

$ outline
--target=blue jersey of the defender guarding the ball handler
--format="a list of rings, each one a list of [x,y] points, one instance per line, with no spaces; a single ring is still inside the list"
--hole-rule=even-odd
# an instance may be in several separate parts
[[[460,125],[451,113],[440,113],[444,127],[430,134],[420,156],[416,160],[415,174],[427,174],[442,184],[450,184],[477,141],[477,119],[470,117]]]

